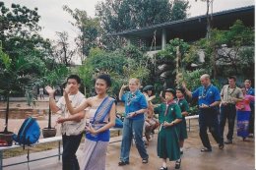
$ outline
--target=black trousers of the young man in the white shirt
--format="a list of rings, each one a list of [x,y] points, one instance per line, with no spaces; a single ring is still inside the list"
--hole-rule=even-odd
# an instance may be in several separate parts
[[[76,156],[77,149],[83,134],[78,136],[62,136],[62,170],[79,170],[79,163]]]

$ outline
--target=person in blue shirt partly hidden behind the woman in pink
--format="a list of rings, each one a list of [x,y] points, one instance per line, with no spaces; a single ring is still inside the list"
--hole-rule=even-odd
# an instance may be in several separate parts
[[[245,80],[244,86],[246,89],[246,94],[254,96],[254,88],[251,87],[251,81]],[[250,121],[249,121],[249,134],[250,134],[249,137],[252,138],[254,134],[254,101],[250,102],[250,107],[251,107],[251,115],[250,115]]]

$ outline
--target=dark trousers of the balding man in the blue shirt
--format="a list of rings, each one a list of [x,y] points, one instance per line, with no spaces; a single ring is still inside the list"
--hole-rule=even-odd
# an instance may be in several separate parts
[[[214,108],[199,109],[199,128],[199,136],[205,147],[212,148],[207,134],[208,128],[215,141],[218,143],[223,143],[220,136],[218,111]]]

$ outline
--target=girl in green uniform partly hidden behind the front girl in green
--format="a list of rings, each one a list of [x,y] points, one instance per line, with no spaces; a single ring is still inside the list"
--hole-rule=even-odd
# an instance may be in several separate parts
[[[176,103],[180,107],[181,115],[182,115],[182,121],[178,123],[177,129],[179,133],[179,148],[180,148],[180,154],[183,154],[183,145],[185,139],[187,139],[187,124],[185,117],[188,115],[188,102],[184,97],[185,89],[183,87],[176,87]]]

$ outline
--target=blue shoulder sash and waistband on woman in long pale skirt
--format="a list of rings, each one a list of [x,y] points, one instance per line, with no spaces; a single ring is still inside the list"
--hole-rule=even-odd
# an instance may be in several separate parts
[[[96,109],[96,114],[94,120],[92,122],[93,128],[96,130],[103,127],[106,124],[104,121],[105,117],[109,114],[111,107],[114,103],[114,99],[111,97],[105,97],[100,105]],[[101,142],[109,142],[110,139],[110,132],[106,130],[96,135],[92,135],[90,133],[86,134],[86,138],[91,141],[101,141]]]

